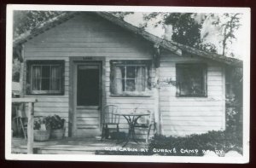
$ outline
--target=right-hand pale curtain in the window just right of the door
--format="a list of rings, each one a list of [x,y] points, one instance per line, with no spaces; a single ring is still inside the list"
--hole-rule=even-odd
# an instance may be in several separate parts
[[[145,90],[145,67],[137,67],[136,90]]]

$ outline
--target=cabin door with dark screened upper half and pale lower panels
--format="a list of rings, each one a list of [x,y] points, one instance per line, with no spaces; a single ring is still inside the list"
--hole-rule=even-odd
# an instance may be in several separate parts
[[[73,72],[73,136],[100,136],[101,64],[75,63]]]

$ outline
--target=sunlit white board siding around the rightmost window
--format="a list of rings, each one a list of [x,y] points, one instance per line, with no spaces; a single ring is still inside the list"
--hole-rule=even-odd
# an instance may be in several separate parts
[[[160,78],[176,81],[176,64],[188,62],[207,63],[207,97],[177,97],[175,86],[162,87],[160,113],[166,136],[224,130],[224,73],[219,63],[199,57],[165,54],[160,60]]]

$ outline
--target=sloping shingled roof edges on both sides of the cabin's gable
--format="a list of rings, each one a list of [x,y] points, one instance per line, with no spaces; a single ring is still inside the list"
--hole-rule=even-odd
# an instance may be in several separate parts
[[[13,43],[14,47],[19,46],[21,43],[25,43],[27,40],[32,39],[35,36],[38,36],[38,34],[41,34],[47,30],[49,30],[51,27],[57,26],[61,24],[62,22],[65,22],[71,18],[74,17],[75,14],[79,14],[80,12],[63,12],[62,14],[45,21],[44,24],[41,24],[37,27],[35,27],[32,31],[25,32],[21,34],[18,38],[15,38]],[[213,61],[219,61],[222,63],[225,63],[230,66],[237,66],[242,67],[242,61],[238,60],[236,58],[226,57],[223,55],[218,55],[214,53],[210,53],[207,51],[203,51],[201,49],[195,49],[193,47],[189,47],[187,45],[183,45],[181,43],[175,43],[173,41],[168,41],[163,38],[159,38],[157,36],[154,36],[153,34],[146,32],[142,30],[141,28],[137,26],[133,26],[130,23],[126,22],[125,20],[121,20],[117,17],[115,17],[113,14],[110,14],[108,12],[95,12],[97,15],[101,16],[102,18],[111,21],[113,24],[123,27],[125,30],[133,32],[142,38],[145,38],[149,42],[155,43],[156,45],[159,45],[161,48],[169,50],[171,52],[176,53],[177,55],[183,55],[182,52],[190,54],[190,55],[198,55],[203,58],[211,59]]]

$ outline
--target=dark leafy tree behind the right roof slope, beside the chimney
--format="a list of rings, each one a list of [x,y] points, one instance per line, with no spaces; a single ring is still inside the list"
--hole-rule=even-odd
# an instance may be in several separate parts
[[[206,15],[196,13],[150,13],[144,15],[144,20],[154,20],[160,17],[154,26],[172,25],[172,40],[197,49],[207,50],[217,53],[216,46],[213,43],[203,43],[201,38],[201,28]],[[196,18],[201,17],[201,20]],[[148,23],[144,24],[144,27]]]

